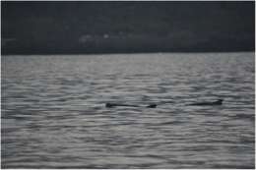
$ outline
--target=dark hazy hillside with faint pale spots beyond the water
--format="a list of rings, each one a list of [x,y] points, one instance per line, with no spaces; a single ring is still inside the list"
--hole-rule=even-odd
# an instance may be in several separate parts
[[[254,2],[1,2],[2,53],[254,50]]]

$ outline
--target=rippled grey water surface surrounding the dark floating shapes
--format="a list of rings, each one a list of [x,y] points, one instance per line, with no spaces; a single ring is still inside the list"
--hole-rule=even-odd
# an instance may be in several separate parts
[[[255,166],[254,53],[2,56],[1,70],[2,168]]]

